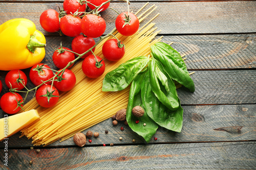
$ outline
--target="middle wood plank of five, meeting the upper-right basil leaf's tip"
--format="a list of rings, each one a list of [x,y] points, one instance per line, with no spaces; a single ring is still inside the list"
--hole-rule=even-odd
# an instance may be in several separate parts
[[[1,74],[2,82],[4,77],[5,75]],[[195,71],[191,78],[195,83],[194,93],[183,87],[177,90],[182,105],[255,104],[256,70]],[[33,85],[28,87],[30,86]],[[8,88],[5,85],[0,95],[6,92]],[[25,93],[21,95],[24,96]],[[30,92],[27,101],[32,99],[33,95],[34,93]]]

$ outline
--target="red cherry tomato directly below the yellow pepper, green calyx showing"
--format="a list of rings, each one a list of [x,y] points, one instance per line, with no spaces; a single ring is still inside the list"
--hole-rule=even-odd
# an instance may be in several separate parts
[[[25,73],[18,69],[10,70],[5,77],[5,84],[7,87],[17,88],[16,90],[22,90],[24,85],[27,85],[27,81],[28,79]]]

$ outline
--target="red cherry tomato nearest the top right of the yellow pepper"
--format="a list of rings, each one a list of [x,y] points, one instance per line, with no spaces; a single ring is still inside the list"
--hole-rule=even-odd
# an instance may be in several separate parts
[[[40,25],[50,33],[59,31],[59,13],[53,9],[45,10],[40,15]]]

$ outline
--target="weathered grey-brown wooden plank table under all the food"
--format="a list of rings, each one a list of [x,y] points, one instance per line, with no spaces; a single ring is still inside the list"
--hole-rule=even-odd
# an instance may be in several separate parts
[[[0,2],[0,24],[12,18],[28,18],[46,35],[42,62],[54,67],[53,48],[60,42],[71,48],[71,37],[47,33],[39,23],[43,11],[62,7],[63,1]],[[130,9],[136,11],[144,4],[131,1]],[[153,4],[158,6],[153,13],[160,12],[154,20],[161,30],[158,36],[163,35],[162,42],[174,42],[172,46],[186,55],[189,72],[195,71],[191,78],[196,91],[178,89],[184,109],[181,133],[159,128],[154,135],[158,139],[146,144],[128,126],[119,123],[113,127],[112,120],[107,119],[88,129],[100,136],[83,148],[70,138],[34,149],[30,149],[31,140],[19,138],[17,133],[9,138],[8,166],[3,162],[5,145],[0,143],[1,169],[256,168],[256,2],[152,0],[149,6]],[[112,2],[111,7],[126,11],[124,3]],[[116,14],[108,9],[101,15],[108,33],[114,28]],[[28,75],[29,69],[24,71]],[[3,83],[6,74],[0,71]],[[33,87],[31,82],[28,87]],[[6,92],[4,86],[0,96]]]

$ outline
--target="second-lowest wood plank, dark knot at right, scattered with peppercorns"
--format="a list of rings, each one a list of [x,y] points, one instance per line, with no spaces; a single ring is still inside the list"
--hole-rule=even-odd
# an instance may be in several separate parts
[[[176,133],[159,127],[150,143],[172,142],[211,142],[211,141],[241,141],[256,140],[256,105],[207,105],[207,106],[183,106],[183,129]],[[3,116],[3,115],[2,115]],[[124,127],[124,131],[120,128]],[[115,145],[144,143],[144,139],[134,133],[128,126],[119,122],[112,125],[112,119],[107,119],[88,130],[99,132],[99,137],[92,137],[92,143],[87,139],[87,146],[99,144]],[[86,134],[88,130],[82,133]],[[105,134],[105,130],[109,133]],[[20,133],[11,136],[8,140],[9,148],[26,148],[33,146],[32,140],[26,137],[19,138]],[[122,137],[122,140],[119,140]],[[132,140],[136,142],[133,143]],[[74,146],[73,138],[63,142],[54,142],[50,147]],[[0,143],[4,148],[4,143]]]

